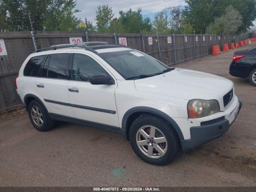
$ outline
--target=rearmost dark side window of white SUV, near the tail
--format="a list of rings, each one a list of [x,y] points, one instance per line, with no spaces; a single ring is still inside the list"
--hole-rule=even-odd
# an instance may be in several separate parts
[[[44,61],[44,57],[45,57],[45,55],[32,57],[28,61],[27,65],[26,65],[26,67],[24,69],[24,76],[34,76],[34,77],[37,77],[38,73],[39,73],[40,65]]]

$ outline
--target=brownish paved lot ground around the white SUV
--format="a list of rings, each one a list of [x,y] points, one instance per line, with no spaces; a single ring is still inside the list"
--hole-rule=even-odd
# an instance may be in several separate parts
[[[256,87],[228,74],[233,53],[177,65],[234,82],[243,107],[222,137],[154,166],[118,134],[65,122],[39,132],[26,112],[9,114],[0,120],[0,186],[256,186]]]

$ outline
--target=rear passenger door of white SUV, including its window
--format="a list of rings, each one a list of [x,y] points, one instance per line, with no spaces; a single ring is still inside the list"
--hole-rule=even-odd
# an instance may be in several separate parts
[[[48,55],[36,82],[38,96],[44,102],[48,112],[74,117],[68,98],[69,53]]]

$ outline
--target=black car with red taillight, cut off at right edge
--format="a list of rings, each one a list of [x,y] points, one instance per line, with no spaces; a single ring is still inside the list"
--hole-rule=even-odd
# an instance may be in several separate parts
[[[250,83],[256,86],[256,47],[236,51],[229,73],[234,77],[249,78]]]

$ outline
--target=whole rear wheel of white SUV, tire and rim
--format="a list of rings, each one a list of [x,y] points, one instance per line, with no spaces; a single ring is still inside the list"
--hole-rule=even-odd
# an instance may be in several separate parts
[[[37,100],[33,100],[28,105],[28,115],[34,128],[38,131],[48,131],[54,125],[44,106]]]

